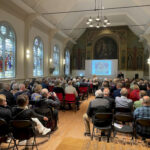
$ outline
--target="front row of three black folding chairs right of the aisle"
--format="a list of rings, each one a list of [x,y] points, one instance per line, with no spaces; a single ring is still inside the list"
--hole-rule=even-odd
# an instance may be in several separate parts
[[[113,131],[113,136],[115,137],[118,132],[124,134],[130,134],[132,140],[137,137],[137,135],[143,138],[150,138],[150,136],[140,135],[136,132],[136,126],[140,125],[143,127],[150,127],[150,119],[137,119],[134,120],[131,114],[127,113],[97,113],[92,118],[93,130],[91,139],[95,136],[95,129],[101,131],[107,131],[107,141],[111,136]],[[100,136],[101,137],[101,136]]]

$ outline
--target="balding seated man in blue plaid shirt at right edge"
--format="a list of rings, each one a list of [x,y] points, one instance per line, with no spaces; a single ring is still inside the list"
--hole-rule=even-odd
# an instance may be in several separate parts
[[[150,119],[150,97],[144,96],[142,107],[134,111],[134,119]],[[136,132],[141,136],[150,136],[150,127],[136,126]]]

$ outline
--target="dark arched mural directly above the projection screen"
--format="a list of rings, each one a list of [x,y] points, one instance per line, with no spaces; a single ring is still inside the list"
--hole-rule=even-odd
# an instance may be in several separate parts
[[[94,59],[118,59],[117,43],[110,37],[102,37],[95,43]]]

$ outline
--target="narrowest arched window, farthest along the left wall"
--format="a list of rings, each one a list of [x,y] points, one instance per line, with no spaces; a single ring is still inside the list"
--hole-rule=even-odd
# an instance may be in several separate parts
[[[66,51],[65,53],[65,75],[69,75],[70,74],[70,53],[69,51]]]

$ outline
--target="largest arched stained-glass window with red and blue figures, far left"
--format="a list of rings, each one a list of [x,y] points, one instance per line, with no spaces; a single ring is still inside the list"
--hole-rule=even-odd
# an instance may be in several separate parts
[[[10,25],[0,22],[0,78],[15,77],[16,36]]]

